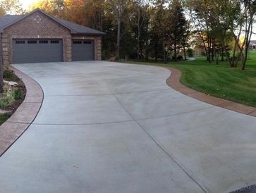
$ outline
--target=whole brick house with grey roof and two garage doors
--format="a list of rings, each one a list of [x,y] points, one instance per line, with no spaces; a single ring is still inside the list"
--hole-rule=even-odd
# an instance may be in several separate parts
[[[39,8],[0,17],[4,66],[11,63],[101,60],[103,32],[54,18]]]

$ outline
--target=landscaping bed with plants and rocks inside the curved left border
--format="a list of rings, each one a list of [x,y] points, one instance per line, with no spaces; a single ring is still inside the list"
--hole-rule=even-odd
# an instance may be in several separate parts
[[[4,70],[4,92],[0,94],[0,125],[16,111],[25,99],[26,89],[13,70]]]

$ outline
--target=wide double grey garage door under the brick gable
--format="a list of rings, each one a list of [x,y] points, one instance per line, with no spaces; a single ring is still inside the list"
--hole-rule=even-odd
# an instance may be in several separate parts
[[[13,39],[13,63],[63,61],[62,39]]]

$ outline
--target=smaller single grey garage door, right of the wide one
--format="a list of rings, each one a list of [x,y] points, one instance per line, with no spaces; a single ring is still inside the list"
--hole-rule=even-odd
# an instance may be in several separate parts
[[[72,61],[94,61],[95,45],[93,40],[72,41]]]

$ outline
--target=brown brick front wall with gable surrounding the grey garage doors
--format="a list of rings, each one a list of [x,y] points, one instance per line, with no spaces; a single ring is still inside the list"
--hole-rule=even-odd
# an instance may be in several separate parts
[[[66,29],[56,21],[47,17],[40,11],[35,11],[23,20],[7,27],[2,35],[2,51],[4,66],[12,63],[12,41],[13,39],[63,39],[63,61],[71,61],[72,40],[71,39],[93,39],[95,41],[95,60],[101,60],[102,40],[101,37],[72,36],[70,30]]]

